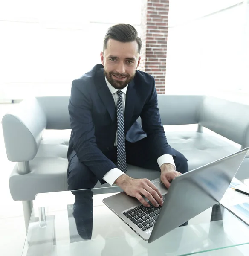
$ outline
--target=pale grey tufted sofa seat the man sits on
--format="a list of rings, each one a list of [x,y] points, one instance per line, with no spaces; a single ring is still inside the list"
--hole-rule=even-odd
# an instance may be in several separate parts
[[[31,172],[19,175],[17,166],[14,168],[9,179],[14,200],[33,200],[37,193],[67,190],[67,148],[70,132],[70,130],[46,130],[36,157],[30,161]],[[205,132],[167,131],[166,134],[169,144],[188,159],[190,170],[239,150],[222,137]],[[246,166],[249,166],[249,158],[246,158],[240,166],[236,175],[238,179],[249,178],[249,170]],[[153,170],[131,165],[127,167],[127,175],[134,178],[147,177],[153,180],[160,176],[159,172]],[[98,182],[96,187],[100,186]]]

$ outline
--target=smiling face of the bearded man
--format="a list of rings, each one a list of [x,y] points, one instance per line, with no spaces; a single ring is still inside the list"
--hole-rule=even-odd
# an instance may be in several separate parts
[[[100,56],[104,75],[119,90],[132,81],[141,59],[136,41],[123,43],[113,39],[107,41],[107,47]]]

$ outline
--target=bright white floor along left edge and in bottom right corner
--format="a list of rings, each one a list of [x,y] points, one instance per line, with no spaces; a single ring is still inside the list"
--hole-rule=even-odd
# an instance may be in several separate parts
[[[3,115],[16,108],[16,104],[0,104],[0,120]],[[168,127],[167,129],[170,129]],[[20,256],[25,241],[25,226],[22,203],[13,201],[9,192],[9,175],[15,163],[7,159],[3,141],[3,131],[0,125],[0,255]],[[249,181],[249,180],[248,180]],[[247,181],[247,182],[248,182]],[[249,245],[224,249],[208,253],[200,253],[200,256],[246,256],[249,253]]]

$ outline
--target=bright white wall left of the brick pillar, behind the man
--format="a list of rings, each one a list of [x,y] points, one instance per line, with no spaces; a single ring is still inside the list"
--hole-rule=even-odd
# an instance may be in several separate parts
[[[101,63],[116,23],[140,32],[141,0],[1,0],[0,101],[69,95],[71,82]]]

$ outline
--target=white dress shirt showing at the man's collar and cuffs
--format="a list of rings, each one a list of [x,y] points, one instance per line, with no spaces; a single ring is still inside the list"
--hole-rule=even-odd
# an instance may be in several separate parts
[[[114,102],[115,102],[115,106],[117,106],[117,102],[118,102],[118,99],[119,99],[119,96],[118,94],[116,93],[118,91],[118,89],[115,89],[109,82],[108,80],[106,79],[105,77],[105,81],[107,83],[107,86],[111,92],[111,94],[113,95],[113,99],[114,99]],[[124,88],[122,89],[121,91],[123,92],[122,94],[122,97],[123,97],[123,112],[125,113],[125,99],[126,99],[126,92],[127,92],[127,87],[129,86],[129,84]],[[115,138],[115,142],[114,142],[114,146],[117,145],[117,134],[116,134],[116,138]],[[176,169],[176,166],[175,166],[175,163],[174,163],[174,159],[173,157],[170,155],[170,154],[164,154],[160,157],[158,157],[157,159],[157,163],[159,165],[159,167],[161,167],[162,164],[164,163],[171,163],[175,169]],[[109,172],[107,172],[104,177],[103,177],[103,180],[105,180],[108,184],[110,184],[110,186],[113,185],[114,181],[120,177],[122,174],[124,174],[124,172],[122,172],[121,170],[119,170],[118,168],[113,168],[111,169]]]

